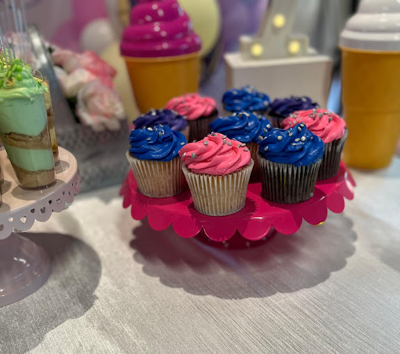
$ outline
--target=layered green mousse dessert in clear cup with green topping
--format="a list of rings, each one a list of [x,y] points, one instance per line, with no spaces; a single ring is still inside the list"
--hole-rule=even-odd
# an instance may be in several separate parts
[[[43,188],[56,180],[42,83],[19,60],[0,79],[0,137],[19,185]]]

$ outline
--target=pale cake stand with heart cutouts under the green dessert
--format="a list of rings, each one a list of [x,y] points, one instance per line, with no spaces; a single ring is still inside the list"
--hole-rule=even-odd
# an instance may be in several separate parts
[[[17,183],[6,151],[0,151],[4,183],[0,208],[0,307],[19,301],[38,290],[51,273],[49,256],[42,248],[18,235],[35,220],[47,221],[72,203],[81,186],[78,165],[72,153],[60,148],[56,185],[27,191]]]

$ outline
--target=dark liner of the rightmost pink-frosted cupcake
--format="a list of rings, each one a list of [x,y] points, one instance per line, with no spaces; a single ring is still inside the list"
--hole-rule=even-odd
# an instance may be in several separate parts
[[[349,130],[346,129],[344,135],[340,139],[325,144],[324,158],[319,168],[318,180],[327,180],[338,174],[340,158],[342,157],[342,150],[347,135],[349,135]]]

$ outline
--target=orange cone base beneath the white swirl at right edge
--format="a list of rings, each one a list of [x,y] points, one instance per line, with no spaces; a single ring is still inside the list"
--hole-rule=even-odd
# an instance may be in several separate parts
[[[342,47],[342,103],[349,166],[390,165],[400,136],[400,52]]]

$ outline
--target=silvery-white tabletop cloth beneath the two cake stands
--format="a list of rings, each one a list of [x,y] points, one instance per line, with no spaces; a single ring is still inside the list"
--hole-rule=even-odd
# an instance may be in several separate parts
[[[0,308],[0,353],[400,353],[400,159],[353,176],[342,214],[244,251],[78,196],[29,235],[53,273]]]

